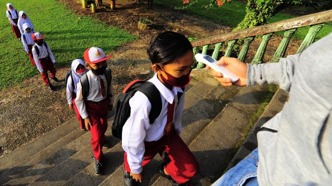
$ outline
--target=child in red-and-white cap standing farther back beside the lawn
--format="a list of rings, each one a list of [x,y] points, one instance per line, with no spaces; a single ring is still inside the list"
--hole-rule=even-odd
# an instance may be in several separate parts
[[[42,36],[40,33],[32,34],[32,39],[35,42],[32,53],[37,69],[42,75],[44,83],[48,86],[50,91],[54,91],[54,87],[50,83],[49,77],[53,79],[53,81],[58,82],[55,77],[55,58],[48,44],[43,40],[44,38],[45,36]],[[50,75],[48,75],[47,70],[50,71]]]

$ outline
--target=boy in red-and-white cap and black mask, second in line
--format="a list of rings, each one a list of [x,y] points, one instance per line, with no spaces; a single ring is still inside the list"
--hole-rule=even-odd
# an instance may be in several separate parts
[[[91,144],[94,152],[94,171],[96,175],[103,173],[103,151],[109,143],[105,140],[108,110],[113,108],[113,85],[111,71],[107,69],[103,50],[91,47],[85,50],[85,67],[89,70],[77,83],[75,104],[85,128],[91,131]]]

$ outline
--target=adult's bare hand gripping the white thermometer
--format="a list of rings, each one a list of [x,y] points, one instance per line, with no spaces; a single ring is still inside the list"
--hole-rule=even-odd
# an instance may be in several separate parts
[[[224,65],[227,70],[235,74],[239,79],[232,83],[231,79],[224,78],[223,74],[220,72],[216,72],[214,70],[211,71],[212,75],[224,86],[231,86],[232,84],[237,86],[246,86],[247,85],[247,64],[233,57],[221,57],[216,65]],[[210,67],[206,66],[206,69],[210,69]]]

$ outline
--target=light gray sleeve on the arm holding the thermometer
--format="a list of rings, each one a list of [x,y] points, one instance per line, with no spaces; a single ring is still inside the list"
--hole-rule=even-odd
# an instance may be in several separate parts
[[[248,65],[247,86],[254,84],[278,84],[287,92],[292,84],[295,64],[299,54],[281,58],[278,63]]]

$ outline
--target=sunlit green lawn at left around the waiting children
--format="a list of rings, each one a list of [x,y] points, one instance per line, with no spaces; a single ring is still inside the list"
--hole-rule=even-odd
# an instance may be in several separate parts
[[[39,74],[33,67],[26,52],[14,36],[6,17],[6,3],[1,1],[0,12],[0,90],[19,84],[29,76]],[[46,35],[57,67],[70,66],[76,58],[83,59],[88,47],[96,46],[105,53],[125,42],[135,39],[125,30],[105,25],[92,17],[80,17],[56,0],[12,0],[16,10],[23,10],[34,23],[36,32]]]

